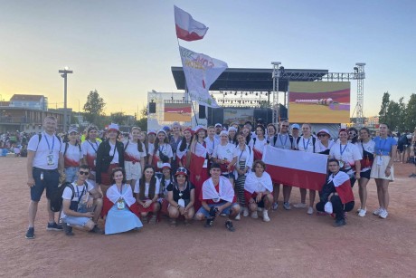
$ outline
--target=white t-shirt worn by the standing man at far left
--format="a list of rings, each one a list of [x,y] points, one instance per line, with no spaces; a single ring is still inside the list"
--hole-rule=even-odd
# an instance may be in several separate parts
[[[51,136],[45,132],[42,132],[41,141],[39,141],[39,136],[37,134],[33,135],[27,145],[28,150],[35,152],[33,157],[33,167],[42,168],[45,170],[58,168],[58,159],[61,145],[61,141],[56,137],[56,135]],[[50,155],[52,156],[50,159],[48,159],[48,156]],[[53,163],[49,164],[48,160]]]

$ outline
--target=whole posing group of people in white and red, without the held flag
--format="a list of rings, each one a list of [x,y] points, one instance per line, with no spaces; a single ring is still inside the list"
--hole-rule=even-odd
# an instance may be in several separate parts
[[[374,178],[380,207],[373,215],[388,216],[397,143],[388,136],[385,124],[380,124],[380,136],[374,139],[366,128],[339,129],[338,138],[331,139],[327,129],[315,133],[310,124],[290,125],[287,120],[279,126],[260,121],[254,131],[251,122],[242,127],[232,124],[228,129],[221,123],[191,129],[175,122],[157,131],[133,127],[128,138],[120,136],[117,124],[110,124],[102,140],[99,129],[90,125],[82,138],[77,129],[69,129],[67,142],[54,135],[53,117],[47,117],[43,127],[43,134],[33,136],[28,144],[31,204],[26,238],[34,238],[34,217],[43,190],[46,188],[50,199],[60,177],[61,182],[72,184],[62,195],[63,226],[48,210],[47,229],[63,229],[66,235],[73,235],[72,227],[101,232],[99,216],[105,220],[106,235],[156,224],[165,217],[173,226],[201,220],[206,227],[224,217],[230,231],[235,231],[232,220],[241,216],[260,215],[269,222],[269,211],[279,207],[280,185],[273,183],[262,161],[267,145],[319,153],[332,161],[317,206],[314,208],[316,191],[308,190],[307,203],[307,189],[300,188],[300,202],[294,207],[307,208],[312,215],[315,209],[324,213],[323,204],[332,202],[335,225],[345,225],[345,212],[353,209],[354,197],[351,200],[352,191],[343,197],[338,181],[344,183],[347,177],[351,190],[358,180],[357,213],[365,216],[366,185]],[[290,210],[292,185],[282,188],[283,208]]]

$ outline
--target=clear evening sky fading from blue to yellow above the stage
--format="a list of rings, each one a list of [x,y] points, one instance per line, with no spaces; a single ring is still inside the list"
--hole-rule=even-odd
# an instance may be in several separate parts
[[[354,72],[365,62],[364,116],[382,95],[407,102],[416,92],[416,2],[321,1],[6,1],[0,0],[0,98],[43,94],[50,107],[78,111],[89,91],[106,112],[134,114],[147,91],[176,91],[180,66],[174,5],[209,27],[202,41],[180,42],[232,68],[327,69]],[[352,107],[356,82],[352,82]]]

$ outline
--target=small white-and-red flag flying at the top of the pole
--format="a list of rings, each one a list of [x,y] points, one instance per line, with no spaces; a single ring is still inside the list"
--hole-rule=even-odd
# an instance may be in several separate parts
[[[197,22],[191,14],[175,6],[176,36],[184,41],[192,42],[203,39],[208,27]]]

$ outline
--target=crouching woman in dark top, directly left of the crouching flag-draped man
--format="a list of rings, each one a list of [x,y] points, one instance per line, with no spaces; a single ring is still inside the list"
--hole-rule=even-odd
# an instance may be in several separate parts
[[[186,168],[178,168],[175,173],[175,182],[167,187],[167,199],[169,201],[169,217],[171,225],[176,225],[176,219],[184,216],[184,225],[194,217],[195,187],[188,180]]]

